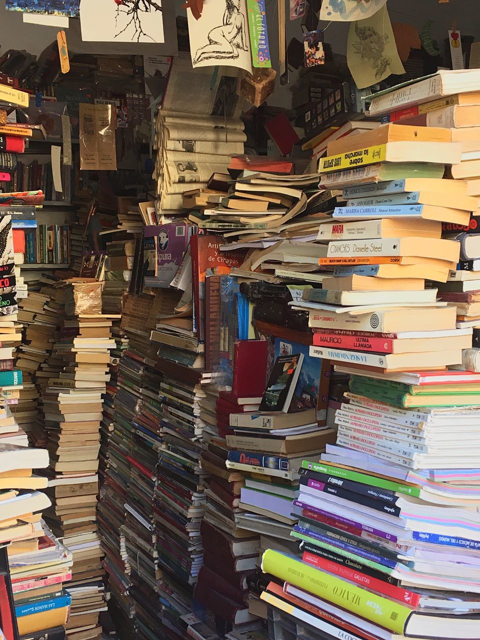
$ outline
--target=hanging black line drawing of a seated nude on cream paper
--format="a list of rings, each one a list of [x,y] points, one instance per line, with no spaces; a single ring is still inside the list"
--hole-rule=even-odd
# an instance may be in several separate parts
[[[198,20],[190,10],[187,15],[194,68],[223,65],[252,73],[246,0],[206,2]]]

